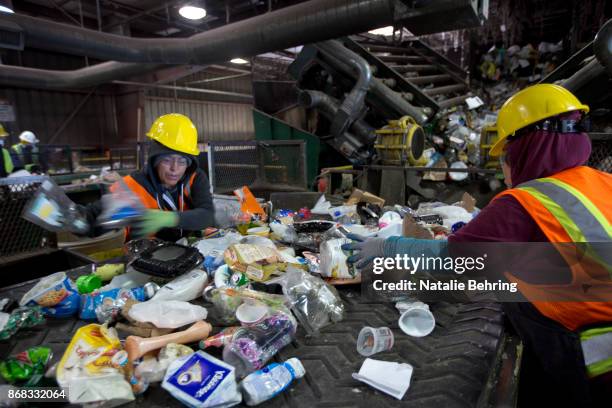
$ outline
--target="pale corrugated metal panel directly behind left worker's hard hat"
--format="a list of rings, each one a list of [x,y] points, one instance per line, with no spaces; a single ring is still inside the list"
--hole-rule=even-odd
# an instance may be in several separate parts
[[[249,104],[185,99],[145,98],[145,127],[160,115],[182,113],[198,128],[199,141],[252,140],[255,138],[253,107]]]

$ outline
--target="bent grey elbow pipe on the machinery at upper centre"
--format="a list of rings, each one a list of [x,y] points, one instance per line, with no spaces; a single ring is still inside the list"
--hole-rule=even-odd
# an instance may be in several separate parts
[[[332,119],[331,134],[333,136],[339,136],[344,134],[353,123],[364,108],[365,97],[370,89],[370,83],[372,82],[372,71],[370,64],[357,55],[353,51],[349,50],[337,40],[330,40],[319,43],[316,45],[320,50],[329,54],[335,54],[348,62],[353,68],[357,76],[357,81],[351,92],[344,98],[342,105],[336,110],[336,115]]]

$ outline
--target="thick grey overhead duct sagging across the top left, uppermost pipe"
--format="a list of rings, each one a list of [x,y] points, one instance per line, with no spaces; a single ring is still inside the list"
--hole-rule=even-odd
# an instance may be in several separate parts
[[[134,38],[0,13],[17,24],[25,44],[122,62],[204,65],[324,41],[393,24],[395,0],[311,0],[189,38]]]

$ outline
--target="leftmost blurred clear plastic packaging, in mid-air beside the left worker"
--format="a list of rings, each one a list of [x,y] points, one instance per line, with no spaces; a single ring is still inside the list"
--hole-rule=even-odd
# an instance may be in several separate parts
[[[86,234],[90,228],[84,211],[51,179],[43,181],[36,195],[28,201],[23,218],[53,232]]]

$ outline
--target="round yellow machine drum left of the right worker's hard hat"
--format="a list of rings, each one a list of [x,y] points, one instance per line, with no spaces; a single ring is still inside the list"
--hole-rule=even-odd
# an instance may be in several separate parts
[[[424,165],[425,132],[410,116],[390,120],[376,131],[374,148],[383,164],[403,166]]]

